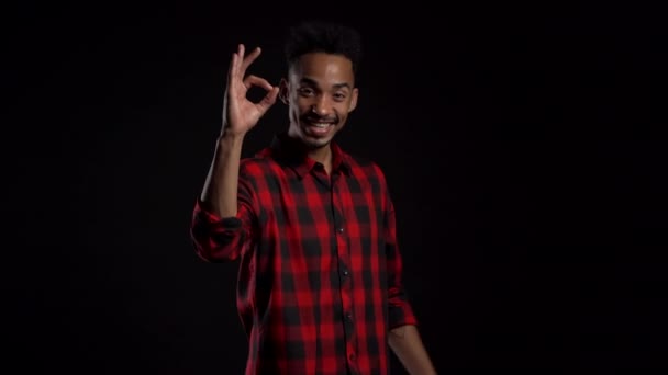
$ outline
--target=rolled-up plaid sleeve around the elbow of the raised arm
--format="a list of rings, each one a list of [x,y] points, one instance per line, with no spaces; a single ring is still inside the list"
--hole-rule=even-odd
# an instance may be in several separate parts
[[[196,200],[190,237],[201,259],[215,263],[234,261],[252,246],[256,204],[250,185],[240,171],[235,217],[220,217],[199,197]]]

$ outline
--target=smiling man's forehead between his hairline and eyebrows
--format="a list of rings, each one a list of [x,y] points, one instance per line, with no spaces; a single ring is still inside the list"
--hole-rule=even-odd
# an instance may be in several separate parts
[[[342,56],[325,53],[302,55],[290,69],[292,80],[308,78],[321,84],[354,82],[353,63]]]

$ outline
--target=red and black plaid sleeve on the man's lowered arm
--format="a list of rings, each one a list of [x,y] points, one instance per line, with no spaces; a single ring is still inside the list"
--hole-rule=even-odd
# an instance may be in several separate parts
[[[381,174],[382,175],[382,174]],[[417,325],[417,319],[413,314],[413,308],[407,296],[407,291],[403,285],[403,262],[399,245],[397,241],[397,227],[394,217],[394,205],[390,198],[386,181],[382,178],[385,186],[385,245],[387,257],[387,273],[388,273],[388,318],[389,328],[393,329],[405,325]]]

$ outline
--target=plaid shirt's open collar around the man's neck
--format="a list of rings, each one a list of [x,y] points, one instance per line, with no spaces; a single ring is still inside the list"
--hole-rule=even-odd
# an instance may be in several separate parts
[[[348,172],[350,168],[349,156],[335,141],[332,141],[330,146],[332,148],[332,171]],[[275,159],[291,167],[300,178],[320,164],[307,155],[299,139],[288,137],[287,133],[279,133],[274,136],[269,151]]]

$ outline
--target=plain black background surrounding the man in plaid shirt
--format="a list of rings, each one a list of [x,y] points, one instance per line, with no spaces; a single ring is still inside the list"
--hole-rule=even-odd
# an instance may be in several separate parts
[[[286,27],[322,18],[364,36],[338,139],[386,170],[438,371],[668,367],[663,13],[361,5],[7,5],[5,365],[243,372],[237,264],[196,257],[190,214],[236,44],[277,83]]]

